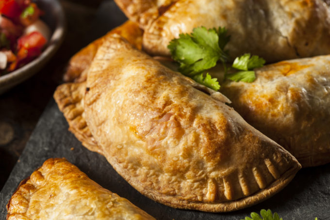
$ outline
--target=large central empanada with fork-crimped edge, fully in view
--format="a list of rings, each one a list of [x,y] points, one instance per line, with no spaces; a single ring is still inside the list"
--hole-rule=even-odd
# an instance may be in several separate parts
[[[118,35],[99,47],[86,86],[84,116],[104,156],[135,189],[163,204],[244,208],[281,190],[300,169],[225,105],[225,96]]]

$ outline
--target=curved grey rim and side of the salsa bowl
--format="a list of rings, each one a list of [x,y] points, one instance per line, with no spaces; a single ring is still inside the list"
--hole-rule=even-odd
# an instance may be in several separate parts
[[[18,83],[30,78],[38,72],[55,54],[64,40],[66,30],[66,18],[64,10],[58,0],[47,0],[53,7],[54,14],[56,15],[56,24],[54,31],[49,39],[48,45],[45,50],[35,58],[33,61],[25,64],[24,66],[16,69],[15,71],[6,75],[0,76],[0,94],[17,85]],[[31,71],[31,68],[34,68]]]

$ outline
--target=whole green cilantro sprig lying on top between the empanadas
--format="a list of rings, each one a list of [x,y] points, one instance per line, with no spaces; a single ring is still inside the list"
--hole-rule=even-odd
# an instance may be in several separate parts
[[[179,71],[198,83],[215,91],[220,88],[216,78],[211,78],[206,70],[214,67],[217,62],[224,65],[226,79],[252,82],[255,79],[254,68],[261,67],[265,61],[258,56],[244,54],[235,59],[232,67],[238,72],[228,74],[226,64],[229,60],[228,51],[224,48],[230,41],[226,28],[206,29],[195,28],[191,34],[182,33],[173,39],[168,48],[173,60],[180,63]]]

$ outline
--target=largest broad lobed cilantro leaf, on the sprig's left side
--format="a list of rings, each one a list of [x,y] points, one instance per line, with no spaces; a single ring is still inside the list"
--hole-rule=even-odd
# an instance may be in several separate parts
[[[214,67],[218,60],[226,62],[228,54],[223,51],[229,40],[226,33],[221,28],[207,30],[199,27],[191,34],[180,34],[179,39],[172,40],[168,48],[172,58],[180,63],[180,72],[193,77]]]

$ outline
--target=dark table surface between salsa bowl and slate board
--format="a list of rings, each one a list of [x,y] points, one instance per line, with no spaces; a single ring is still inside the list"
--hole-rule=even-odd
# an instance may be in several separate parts
[[[31,79],[0,95],[0,189],[36,126],[69,58],[104,33],[92,31],[101,0],[60,0],[67,21],[66,38],[51,61]]]

